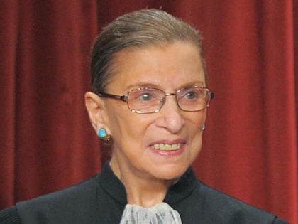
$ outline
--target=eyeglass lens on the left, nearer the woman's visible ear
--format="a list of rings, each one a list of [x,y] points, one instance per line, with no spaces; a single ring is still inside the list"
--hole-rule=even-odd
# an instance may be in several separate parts
[[[158,112],[162,105],[165,93],[161,90],[140,88],[128,92],[128,107],[132,112]]]

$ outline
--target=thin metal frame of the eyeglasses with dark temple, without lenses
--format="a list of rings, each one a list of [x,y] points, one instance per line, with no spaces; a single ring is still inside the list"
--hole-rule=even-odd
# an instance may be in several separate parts
[[[207,95],[209,96],[209,100],[206,104],[206,107],[200,109],[200,110],[204,110],[206,109],[207,107],[209,107],[209,103],[210,101],[214,98],[214,93],[211,92],[207,87],[203,87],[203,86],[197,86],[197,85],[194,85],[194,86],[189,86],[189,87],[185,87],[183,89],[180,89],[180,90],[177,90],[176,92],[165,92],[163,90],[160,90],[158,88],[153,88],[153,87],[138,87],[136,89],[133,89],[133,90],[129,90],[125,95],[114,95],[114,94],[110,94],[110,93],[106,93],[106,92],[99,92],[97,93],[97,95],[99,95],[99,97],[106,97],[106,98],[111,98],[111,99],[115,99],[115,100],[121,100],[123,102],[126,102],[127,104],[127,107],[128,107],[128,110],[130,110],[131,112],[135,112],[135,113],[138,113],[138,114],[153,114],[153,113],[157,113],[157,112],[160,112],[160,110],[162,109],[162,106],[165,104],[165,97],[167,96],[170,96],[170,95],[175,95],[176,97],[176,102],[177,102],[177,105],[178,107],[180,108],[180,110],[182,111],[186,111],[186,112],[198,112],[200,110],[183,110],[179,103],[178,103],[178,99],[177,99],[177,94],[185,89],[188,89],[188,88],[202,88],[204,90],[206,90],[206,93]],[[136,91],[136,90],[159,90],[160,92],[163,92],[165,94],[165,97],[163,97],[161,99],[161,104],[160,104],[160,108],[158,110],[154,110],[153,112],[142,112],[140,110],[135,110],[135,109],[131,109],[128,105],[128,95],[130,92],[133,92],[133,91]]]

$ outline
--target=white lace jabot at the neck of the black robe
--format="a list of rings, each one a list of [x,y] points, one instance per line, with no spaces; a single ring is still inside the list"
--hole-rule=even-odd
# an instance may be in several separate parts
[[[120,224],[182,224],[177,210],[174,210],[167,203],[144,208],[137,205],[127,204]]]

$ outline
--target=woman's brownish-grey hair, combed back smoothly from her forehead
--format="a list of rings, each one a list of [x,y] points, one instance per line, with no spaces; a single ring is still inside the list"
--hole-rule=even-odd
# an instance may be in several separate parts
[[[104,92],[111,78],[113,59],[120,50],[162,46],[173,41],[188,41],[198,47],[206,79],[202,35],[199,31],[165,11],[143,9],[116,18],[96,38],[91,59],[92,91]]]

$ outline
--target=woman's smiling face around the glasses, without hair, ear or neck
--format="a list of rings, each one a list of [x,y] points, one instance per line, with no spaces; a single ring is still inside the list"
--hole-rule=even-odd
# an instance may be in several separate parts
[[[205,85],[199,50],[192,43],[176,41],[163,47],[122,50],[114,65],[115,73],[106,88],[114,95],[144,86],[176,92],[186,86]],[[103,98],[103,102],[106,127],[114,141],[111,167],[119,178],[172,180],[197,158],[206,109],[184,112],[173,95],[166,97],[160,112],[152,114],[131,112],[120,100]],[[156,149],[161,144],[173,150]]]

